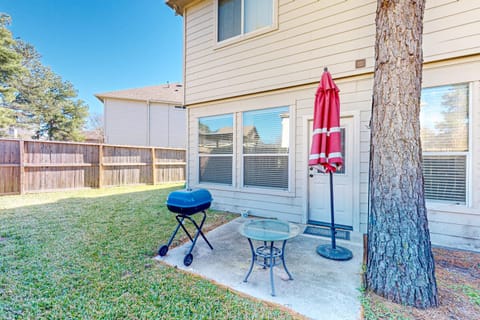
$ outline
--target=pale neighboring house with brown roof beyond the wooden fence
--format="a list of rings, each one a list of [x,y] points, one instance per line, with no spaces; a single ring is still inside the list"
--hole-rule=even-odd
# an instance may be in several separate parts
[[[186,112],[181,84],[95,96],[104,104],[105,143],[185,148]]]

